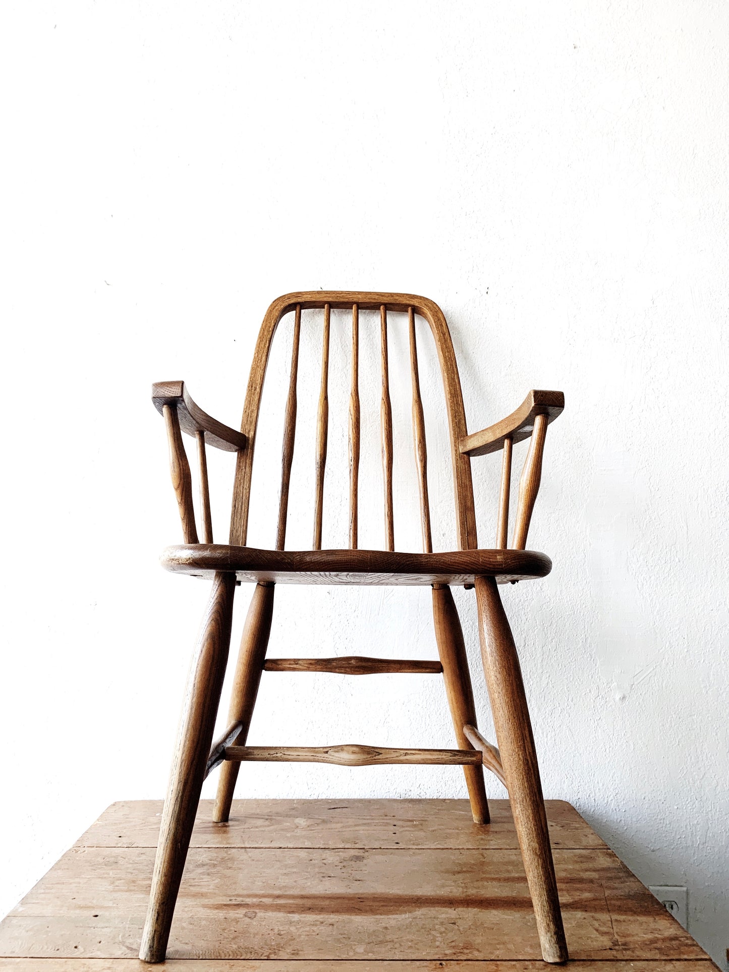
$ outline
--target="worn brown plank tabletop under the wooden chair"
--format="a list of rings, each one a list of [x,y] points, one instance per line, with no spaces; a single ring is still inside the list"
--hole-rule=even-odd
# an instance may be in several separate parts
[[[346,773],[348,771],[342,770]],[[516,834],[467,800],[203,801],[164,967],[543,972]],[[10,972],[141,972],[160,801],[113,804],[0,923]],[[715,972],[569,804],[547,801],[575,972]]]

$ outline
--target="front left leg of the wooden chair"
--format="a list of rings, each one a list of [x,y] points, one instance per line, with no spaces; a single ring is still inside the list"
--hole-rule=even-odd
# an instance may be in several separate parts
[[[150,903],[139,951],[139,957],[145,962],[164,961],[167,950],[226,675],[234,592],[235,574],[216,573],[192,657],[162,811]]]

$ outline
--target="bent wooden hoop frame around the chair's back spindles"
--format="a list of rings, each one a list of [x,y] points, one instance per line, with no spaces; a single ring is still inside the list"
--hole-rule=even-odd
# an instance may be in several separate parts
[[[461,549],[475,549],[478,546],[473,510],[473,487],[470,476],[469,457],[460,451],[459,443],[466,435],[466,413],[464,411],[461,382],[453,351],[448,326],[442,311],[427,297],[414,294],[372,293],[360,291],[302,291],[277,297],[266,311],[260,328],[256,350],[248,381],[248,391],[243,408],[241,432],[246,436],[247,447],[238,455],[233,506],[230,519],[230,542],[244,545],[248,536],[248,512],[251,496],[251,477],[255,454],[256,432],[260,413],[260,397],[265,378],[271,342],[281,318],[293,311],[296,304],[301,309],[330,308],[351,309],[354,304],[360,310],[380,310],[407,313],[412,307],[429,325],[435,342],[443,380],[445,404],[448,414],[451,458],[454,476],[454,497],[456,503],[456,527],[458,546]]]

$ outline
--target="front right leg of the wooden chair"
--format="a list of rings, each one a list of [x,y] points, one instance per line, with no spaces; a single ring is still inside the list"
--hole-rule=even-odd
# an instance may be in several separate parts
[[[477,577],[475,588],[483,667],[541,954],[547,962],[566,962],[565,929],[519,658],[496,579]]]

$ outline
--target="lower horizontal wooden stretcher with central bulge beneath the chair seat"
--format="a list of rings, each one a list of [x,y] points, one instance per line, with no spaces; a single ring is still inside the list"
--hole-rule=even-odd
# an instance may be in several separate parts
[[[261,763],[332,763],[381,766],[390,763],[461,766],[481,762],[473,749],[394,749],[388,746],[226,746],[226,760]]]

